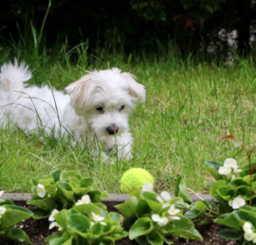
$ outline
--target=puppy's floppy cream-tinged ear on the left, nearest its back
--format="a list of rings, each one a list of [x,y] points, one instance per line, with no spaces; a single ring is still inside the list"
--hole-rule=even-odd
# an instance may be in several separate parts
[[[72,82],[64,90],[70,96],[70,103],[74,107],[77,114],[82,115],[88,108],[89,97],[93,92],[90,85],[92,79],[91,74],[83,76],[81,79]]]

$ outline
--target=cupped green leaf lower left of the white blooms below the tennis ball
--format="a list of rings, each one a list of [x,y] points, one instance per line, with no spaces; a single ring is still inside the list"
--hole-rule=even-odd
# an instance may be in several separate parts
[[[137,236],[144,236],[154,230],[153,220],[149,218],[140,218],[133,224],[129,230],[129,238],[133,240]]]

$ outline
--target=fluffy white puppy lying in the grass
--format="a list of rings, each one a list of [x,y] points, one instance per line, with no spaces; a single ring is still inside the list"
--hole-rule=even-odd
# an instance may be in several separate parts
[[[65,88],[67,95],[50,89],[26,87],[31,72],[25,63],[5,63],[0,73],[0,122],[17,125],[26,133],[73,138],[73,143],[100,140],[106,152],[118,149],[129,159],[133,138],[128,117],[145,101],[144,86],[118,68],[88,72]],[[44,137],[43,137],[44,138]],[[97,141],[99,142],[99,141]],[[117,143],[117,144],[116,144]],[[98,149],[100,149],[98,148]]]

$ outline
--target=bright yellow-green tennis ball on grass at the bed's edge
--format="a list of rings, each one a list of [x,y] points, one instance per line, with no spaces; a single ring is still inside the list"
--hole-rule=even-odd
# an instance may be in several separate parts
[[[120,190],[122,193],[130,193],[134,190],[140,190],[145,183],[154,184],[153,176],[145,169],[134,167],[122,175]]]

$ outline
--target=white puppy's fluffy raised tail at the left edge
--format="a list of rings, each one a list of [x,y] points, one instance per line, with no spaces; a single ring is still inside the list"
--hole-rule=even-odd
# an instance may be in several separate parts
[[[25,62],[18,64],[15,59],[14,63],[4,63],[0,73],[0,93],[22,91],[28,79],[31,79],[31,72]]]

